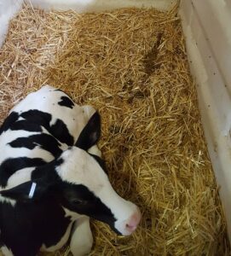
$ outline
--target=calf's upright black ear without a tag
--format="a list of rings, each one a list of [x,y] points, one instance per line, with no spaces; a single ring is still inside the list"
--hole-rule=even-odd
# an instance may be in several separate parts
[[[100,137],[101,116],[98,112],[95,112],[89,119],[87,125],[85,125],[83,131],[81,131],[75,146],[84,150],[88,150],[98,142]]]

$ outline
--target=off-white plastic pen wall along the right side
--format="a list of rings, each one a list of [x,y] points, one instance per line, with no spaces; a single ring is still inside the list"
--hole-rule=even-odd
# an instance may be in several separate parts
[[[231,1],[182,0],[180,15],[231,238]]]

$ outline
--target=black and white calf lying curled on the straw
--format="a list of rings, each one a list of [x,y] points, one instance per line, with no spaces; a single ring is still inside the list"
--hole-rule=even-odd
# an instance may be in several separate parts
[[[141,213],[110,184],[99,113],[44,86],[15,106],[0,129],[0,246],[6,255],[92,247],[89,218],[130,235]]]

